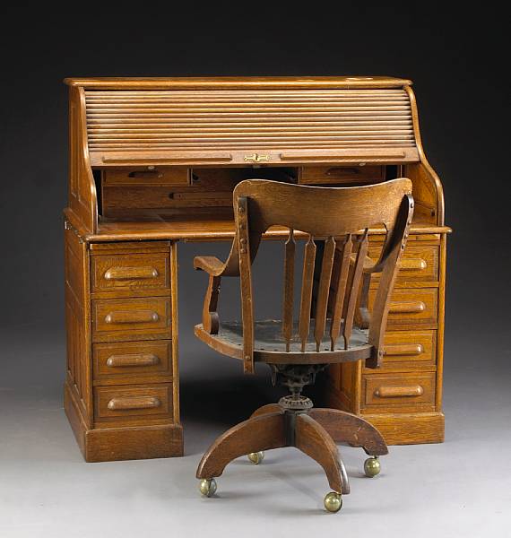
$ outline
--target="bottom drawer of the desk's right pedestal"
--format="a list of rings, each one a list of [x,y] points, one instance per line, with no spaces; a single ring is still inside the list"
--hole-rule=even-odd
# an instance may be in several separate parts
[[[435,372],[364,375],[361,409],[364,412],[374,412],[375,409],[388,412],[433,411],[435,385]]]

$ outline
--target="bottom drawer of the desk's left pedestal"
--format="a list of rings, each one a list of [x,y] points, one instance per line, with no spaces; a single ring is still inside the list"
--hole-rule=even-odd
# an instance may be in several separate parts
[[[171,413],[172,386],[169,383],[94,389],[96,421],[169,418]]]

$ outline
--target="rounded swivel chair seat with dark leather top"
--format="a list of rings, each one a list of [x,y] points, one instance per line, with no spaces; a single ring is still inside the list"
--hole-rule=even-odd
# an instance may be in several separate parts
[[[309,334],[314,334],[314,319],[311,320]],[[286,351],[286,343],[281,332],[281,320],[266,319],[255,321],[254,360],[273,364],[321,364],[333,362],[349,362],[371,357],[372,348],[368,344],[368,331],[353,327],[348,350],[344,349],[344,340],[339,337],[334,350],[330,351],[330,322],[327,321],[325,336],[321,341],[320,351],[316,351],[316,342],[308,339],[305,351],[301,351],[298,323],[295,322],[290,343],[290,351]],[[203,325],[195,325],[195,335],[214,350],[224,355],[243,359],[243,325],[239,322],[224,322],[218,334],[204,331]]]

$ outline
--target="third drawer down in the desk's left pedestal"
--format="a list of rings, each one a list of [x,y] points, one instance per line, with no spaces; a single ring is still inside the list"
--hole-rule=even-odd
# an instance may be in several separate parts
[[[94,380],[128,376],[133,383],[138,376],[171,376],[171,346],[171,340],[95,343],[92,346]]]

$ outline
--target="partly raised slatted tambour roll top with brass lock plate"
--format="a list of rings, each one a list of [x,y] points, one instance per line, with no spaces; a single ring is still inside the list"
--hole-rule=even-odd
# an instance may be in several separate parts
[[[83,89],[92,166],[419,161],[406,80],[66,82]]]

